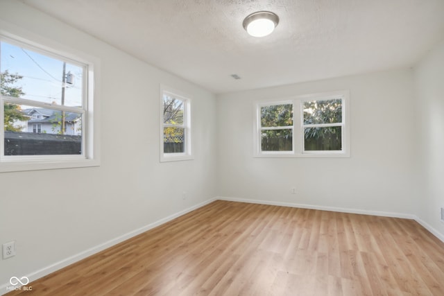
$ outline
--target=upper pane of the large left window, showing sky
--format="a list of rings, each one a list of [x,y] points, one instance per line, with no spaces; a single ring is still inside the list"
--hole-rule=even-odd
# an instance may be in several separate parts
[[[1,94],[82,107],[84,67],[0,42]]]

